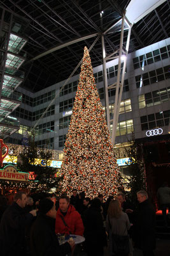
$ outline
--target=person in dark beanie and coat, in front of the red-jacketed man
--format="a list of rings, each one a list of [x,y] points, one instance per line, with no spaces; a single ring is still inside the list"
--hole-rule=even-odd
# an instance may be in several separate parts
[[[32,256],[64,256],[71,252],[74,241],[59,245],[55,234],[56,213],[52,200],[44,198],[39,201],[38,217],[31,227],[30,234]]]

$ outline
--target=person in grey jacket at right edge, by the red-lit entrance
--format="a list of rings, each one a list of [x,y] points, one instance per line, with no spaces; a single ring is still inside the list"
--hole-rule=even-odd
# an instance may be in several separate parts
[[[162,186],[157,191],[157,198],[159,200],[160,209],[162,210],[162,215],[164,218],[164,226],[167,227],[167,216],[166,209],[170,214],[170,188],[167,182],[164,182]]]

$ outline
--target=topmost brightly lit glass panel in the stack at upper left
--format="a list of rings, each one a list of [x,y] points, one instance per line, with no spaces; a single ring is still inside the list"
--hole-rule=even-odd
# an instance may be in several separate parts
[[[10,34],[8,51],[18,53],[27,41],[19,36]]]

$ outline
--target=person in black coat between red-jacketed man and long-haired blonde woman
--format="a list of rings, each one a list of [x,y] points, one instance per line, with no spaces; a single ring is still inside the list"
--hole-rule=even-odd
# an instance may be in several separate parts
[[[85,252],[88,256],[103,256],[103,248],[106,245],[106,230],[103,227],[99,198],[92,200],[89,209],[84,212],[82,218],[85,226]]]

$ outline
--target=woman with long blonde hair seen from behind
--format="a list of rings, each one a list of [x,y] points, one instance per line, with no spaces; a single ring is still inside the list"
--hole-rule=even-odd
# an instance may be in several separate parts
[[[129,254],[127,230],[130,227],[129,218],[125,212],[122,212],[120,202],[118,200],[111,200],[106,217],[110,256],[127,256]]]

